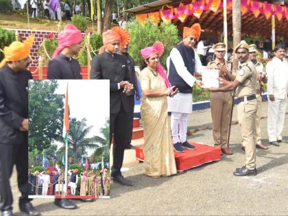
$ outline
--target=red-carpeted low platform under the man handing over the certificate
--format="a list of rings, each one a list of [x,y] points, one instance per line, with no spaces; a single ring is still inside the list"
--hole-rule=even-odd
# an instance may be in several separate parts
[[[185,150],[184,153],[174,152],[177,171],[184,171],[209,163],[214,160],[221,160],[221,148],[191,143],[195,145],[195,150]],[[143,161],[144,154],[142,147],[136,147],[136,159]]]

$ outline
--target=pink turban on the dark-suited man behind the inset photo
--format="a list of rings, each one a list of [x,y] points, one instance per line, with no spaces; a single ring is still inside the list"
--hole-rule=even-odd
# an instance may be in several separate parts
[[[58,34],[58,48],[54,51],[52,58],[56,58],[65,47],[77,45],[81,41],[81,31],[75,25],[65,25],[64,31]]]

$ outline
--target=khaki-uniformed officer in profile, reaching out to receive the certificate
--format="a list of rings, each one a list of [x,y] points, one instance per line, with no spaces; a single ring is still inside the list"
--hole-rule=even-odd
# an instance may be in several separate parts
[[[241,125],[242,144],[245,146],[246,165],[237,168],[233,174],[235,176],[255,176],[256,171],[256,141],[254,139],[255,117],[257,111],[257,100],[255,86],[257,82],[257,72],[255,65],[249,59],[249,46],[245,41],[241,41],[235,48],[240,65],[237,70],[237,77],[233,82],[219,78],[225,86],[220,88],[210,88],[212,92],[232,91],[235,88],[239,100],[238,121]]]

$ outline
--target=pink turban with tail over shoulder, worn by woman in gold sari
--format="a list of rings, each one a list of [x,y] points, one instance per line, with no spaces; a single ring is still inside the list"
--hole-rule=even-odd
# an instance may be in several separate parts
[[[149,58],[150,56],[154,54],[158,54],[158,56],[162,56],[164,52],[164,45],[160,41],[156,41],[152,47],[147,47],[145,49],[141,49],[141,55],[144,59]],[[160,62],[156,66],[156,71],[160,74],[162,77],[163,81],[167,85],[168,88],[171,87],[171,84],[168,80],[168,77],[166,75],[165,70],[163,69],[163,66],[160,64]]]

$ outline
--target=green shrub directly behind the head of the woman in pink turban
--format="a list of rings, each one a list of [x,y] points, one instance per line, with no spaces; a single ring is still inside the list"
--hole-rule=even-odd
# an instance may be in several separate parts
[[[147,21],[144,25],[139,21],[133,21],[130,25],[130,47],[129,53],[136,65],[142,62],[140,50],[152,46],[155,41],[160,41],[165,45],[165,52],[160,58],[161,64],[166,65],[167,57],[175,45],[179,42],[178,29],[176,25],[161,23],[159,27]]]

